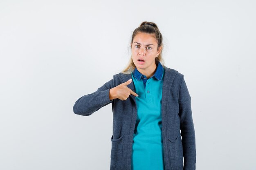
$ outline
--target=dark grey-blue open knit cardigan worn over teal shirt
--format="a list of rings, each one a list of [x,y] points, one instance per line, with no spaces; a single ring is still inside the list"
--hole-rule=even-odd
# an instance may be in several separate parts
[[[191,111],[191,97],[184,75],[167,68],[162,89],[162,138],[165,170],[195,170],[195,130]],[[131,170],[132,140],[137,118],[135,96],[126,100],[109,99],[109,90],[132,78],[119,73],[94,93],[80,97],[74,104],[75,114],[89,116],[112,103],[113,135],[111,137],[110,170]],[[128,86],[135,91],[134,84]],[[182,138],[181,138],[182,137]],[[184,157],[184,166],[183,166]]]

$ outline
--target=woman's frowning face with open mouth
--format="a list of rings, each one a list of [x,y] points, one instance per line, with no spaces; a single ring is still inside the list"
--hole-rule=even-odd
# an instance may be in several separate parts
[[[142,74],[155,71],[155,57],[159,55],[161,47],[157,49],[157,39],[152,34],[137,33],[131,42],[132,61]]]

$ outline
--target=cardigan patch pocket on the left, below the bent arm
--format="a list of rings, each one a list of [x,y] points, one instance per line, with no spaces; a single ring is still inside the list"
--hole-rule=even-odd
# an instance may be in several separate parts
[[[123,137],[119,137],[118,139],[113,139],[113,135],[111,137],[111,158],[122,158],[123,157]]]

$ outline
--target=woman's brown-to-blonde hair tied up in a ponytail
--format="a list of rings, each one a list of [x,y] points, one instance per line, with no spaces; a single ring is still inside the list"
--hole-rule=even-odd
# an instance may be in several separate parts
[[[164,66],[164,60],[162,58],[163,37],[157,27],[157,24],[155,24],[154,22],[147,22],[147,21],[142,22],[140,24],[140,26],[133,31],[132,41],[133,41],[133,38],[135,37],[135,35],[137,35],[137,33],[148,33],[148,34],[155,35],[155,38],[157,39],[157,49],[159,49],[159,47],[162,46],[162,49],[161,49],[158,57],[155,57],[155,63],[158,64],[158,62],[160,62]],[[136,66],[133,63],[132,56],[131,56],[126,68],[124,68],[124,70],[122,70],[121,73],[130,74],[130,73],[132,73],[132,71],[134,71],[135,68],[136,68]]]

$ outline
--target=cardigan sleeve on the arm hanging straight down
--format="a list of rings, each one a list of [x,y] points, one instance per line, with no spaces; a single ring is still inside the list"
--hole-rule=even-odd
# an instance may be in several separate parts
[[[180,130],[184,157],[183,170],[195,170],[195,130],[192,119],[191,96],[189,95],[184,75],[182,75],[182,82],[180,85],[179,107]]]

